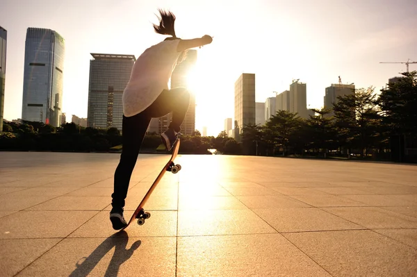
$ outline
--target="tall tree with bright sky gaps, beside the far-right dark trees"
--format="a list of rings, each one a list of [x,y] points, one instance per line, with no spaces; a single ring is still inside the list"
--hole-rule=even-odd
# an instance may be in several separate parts
[[[352,142],[363,158],[364,151],[368,154],[368,149],[379,139],[381,118],[374,88],[360,88],[354,94],[338,96],[333,110],[341,144]]]

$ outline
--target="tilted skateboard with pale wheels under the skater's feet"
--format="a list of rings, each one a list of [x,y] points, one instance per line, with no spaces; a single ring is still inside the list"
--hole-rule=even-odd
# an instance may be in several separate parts
[[[163,177],[163,175],[165,174],[166,171],[171,171],[173,174],[177,174],[178,171],[181,170],[181,165],[175,165],[174,164],[174,159],[178,155],[179,143],[180,143],[180,140],[178,138],[174,142],[174,146],[172,146],[173,150],[172,150],[172,155],[171,155],[170,160],[168,160],[166,165],[163,167],[163,169],[159,173],[158,177],[156,177],[156,180],[154,181],[154,183],[149,188],[148,192],[143,197],[142,201],[140,201],[140,204],[138,205],[138,208],[136,208],[135,212],[133,212],[133,215],[132,215],[131,219],[129,220],[129,222],[127,223],[127,225],[124,226],[124,228],[122,228],[120,231],[126,229],[127,226],[129,226],[134,219],[138,219],[138,225],[143,225],[143,224],[145,224],[145,219],[149,219],[149,217],[151,217],[150,212],[145,212],[145,210],[143,210],[143,206],[145,205],[145,203],[149,199],[149,196],[151,196],[152,192],[155,190],[155,187],[158,185],[159,181],[161,181],[161,179],[162,179],[162,177]]]

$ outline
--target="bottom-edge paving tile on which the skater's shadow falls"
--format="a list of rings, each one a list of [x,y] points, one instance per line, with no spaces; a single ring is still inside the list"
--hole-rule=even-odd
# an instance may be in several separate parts
[[[175,237],[68,238],[17,276],[174,277],[175,252]]]

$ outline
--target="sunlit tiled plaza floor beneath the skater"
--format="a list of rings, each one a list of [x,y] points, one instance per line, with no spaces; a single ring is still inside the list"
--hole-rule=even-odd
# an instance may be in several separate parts
[[[0,276],[417,276],[417,166],[179,156],[111,228],[119,154],[0,152]],[[140,155],[128,219],[167,161]]]

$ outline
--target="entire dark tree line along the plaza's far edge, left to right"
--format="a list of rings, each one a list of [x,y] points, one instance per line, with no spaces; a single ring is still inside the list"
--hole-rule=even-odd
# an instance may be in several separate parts
[[[222,131],[202,137],[199,131],[181,138],[180,153],[219,153],[258,156],[329,156],[379,160],[417,160],[417,72],[402,73],[379,94],[374,87],[339,96],[332,110],[313,109],[302,119],[279,110],[265,125],[243,126],[238,141]],[[156,151],[161,138],[148,133],[142,152]],[[84,128],[74,123],[58,128],[35,121],[4,122],[0,150],[120,151],[117,128]]]

